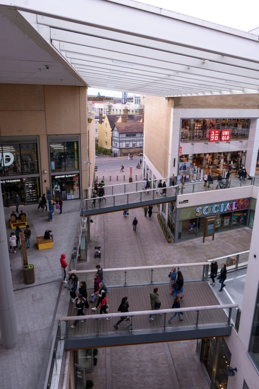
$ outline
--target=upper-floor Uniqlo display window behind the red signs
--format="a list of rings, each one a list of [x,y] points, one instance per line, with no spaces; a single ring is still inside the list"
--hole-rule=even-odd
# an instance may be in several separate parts
[[[206,142],[210,130],[230,130],[230,140],[247,139],[250,119],[182,119],[181,142]]]

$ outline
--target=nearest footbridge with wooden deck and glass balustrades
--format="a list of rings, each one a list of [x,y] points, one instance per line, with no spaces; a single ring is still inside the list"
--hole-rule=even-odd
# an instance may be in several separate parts
[[[184,297],[181,300],[181,309],[172,310],[173,297],[170,295],[168,273],[172,266],[181,268],[184,275]],[[211,336],[228,336],[237,317],[238,306],[236,304],[220,305],[209,286],[207,273],[209,263],[192,263],[176,265],[144,266],[135,268],[104,269],[105,283],[109,288],[108,304],[109,313],[98,314],[92,311],[94,304],[89,303],[90,308],[84,310],[85,316],[79,316],[76,328],[71,325],[78,316],[74,316],[74,304],[70,302],[68,315],[59,317],[65,337],[65,348],[91,348],[110,347],[126,344],[153,343],[162,341],[174,341],[183,339],[197,339]],[[70,271],[68,273],[72,273]],[[87,285],[93,282],[94,270],[74,271],[80,280],[86,280]],[[137,281],[142,279],[142,283]],[[90,281],[91,280],[91,281]],[[135,284],[131,283],[135,280]],[[146,283],[145,283],[146,282]],[[158,288],[161,300],[161,315],[154,315],[154,320],[148,320],[150,311],[149,294],[154,288]],[[93,289],[88,289],[88,301]],[[125,322],[119,324],[119,329],[114,324],[119,320],[121,313],[118,307],[123,297],[129,300],[129,326]],[[176,316],[171,323],[169,317],[177,311],[184,312],[184,321],[179,321]],[[106,320],[112,317],[111,320]],[[81,319],[86,319],[81,322]]]

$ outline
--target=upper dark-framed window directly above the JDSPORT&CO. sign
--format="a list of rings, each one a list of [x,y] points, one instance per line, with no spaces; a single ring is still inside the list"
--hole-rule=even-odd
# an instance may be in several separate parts
[[[51,171],[79,169],[78,142],[51,142]]]

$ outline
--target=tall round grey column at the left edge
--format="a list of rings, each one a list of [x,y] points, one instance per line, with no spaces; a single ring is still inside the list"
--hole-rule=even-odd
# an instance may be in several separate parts
[[[14,309],[11,268],[5,229],[2,193],[0,187],[0,333],[4,348],[13,348],[18,342]]]

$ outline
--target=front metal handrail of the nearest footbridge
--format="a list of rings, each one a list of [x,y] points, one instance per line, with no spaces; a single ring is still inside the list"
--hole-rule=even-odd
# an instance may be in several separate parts
[[[224,305],[212,305],[212,306],[203,306],[203,307],[188,307],[188,308],[174,308],[169,310],[157,310],[153,311],[133,311],[133,312],[119,312],[119,313],[104,313],[104,314],[91,314],[80,316],[80,320],[94,320],[101,319],[106,317],[121,317],[123,316],[142,316],[147,314],[160,314],[160,313],[177,313],[177,312],[194,312],[194,311],[209,311],[209,310],[222,310],[230,308],[239,308],[237,304],[224,304]],[[69,321],[69,320],[78,320],[78,316],[63,316],[57,317],[59,321]]]

